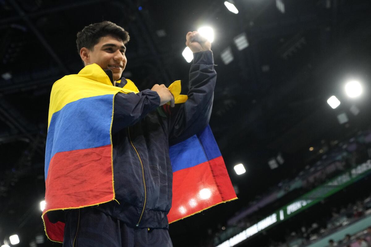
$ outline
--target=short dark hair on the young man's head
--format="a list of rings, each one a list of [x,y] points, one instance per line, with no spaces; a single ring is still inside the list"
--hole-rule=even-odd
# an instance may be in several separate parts
[[[99,43],[99,39],[107,35],[111,35],[122,40],[124,44],[128,43],[130,39],[129,33],[125,31],[125,29],[111,21],[93,23],[89,26],[84,27],[77,33],[77,52],[80,54],[80,50],[82,47],[93,50],[94,46]]]

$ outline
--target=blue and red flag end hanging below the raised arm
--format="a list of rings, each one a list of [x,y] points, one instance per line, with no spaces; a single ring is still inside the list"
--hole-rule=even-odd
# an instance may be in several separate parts
[[[173,167],[170,223],[237,198],[209,126],[171,146],[169,154]]]

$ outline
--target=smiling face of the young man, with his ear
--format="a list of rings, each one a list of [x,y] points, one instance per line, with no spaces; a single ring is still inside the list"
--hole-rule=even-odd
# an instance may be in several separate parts
[[[112,36],[104,36],[92,50],[86,47],[81,48],[80,56],[85,66],[96,63],[104,70],[111,70],[113,79],[116,81],[121,79],[122,71],[127,63],[125,50],[126,47],[122,40]]]

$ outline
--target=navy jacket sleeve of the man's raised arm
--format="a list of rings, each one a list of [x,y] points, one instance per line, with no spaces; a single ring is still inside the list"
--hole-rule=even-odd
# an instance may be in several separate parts
[[[176,104],[174,108],[167,107],[170,111],[170,145],[197,134],[209,124],[215,83],[213,52],[194,53],[189,73],[188,100],[183,104]]]

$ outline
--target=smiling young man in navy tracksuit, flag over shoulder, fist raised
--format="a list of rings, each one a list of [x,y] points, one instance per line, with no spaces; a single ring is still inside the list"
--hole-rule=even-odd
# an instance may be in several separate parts
[[[76,40],[85,68],[79,74],[71,75],[74,77],[64,77],[53,85],[46,153],[49,153],[48,143],[68,146],[69,142],[73,142],[74,147],[78,147],[58,149],[54,144],[51,154],[46,154],[45,159],[46,203],[52,209],[43,213],[43,217],[46,214],[48,218],[44,219],[44,223],[47,234],[47,227],[52,223],[59,226],[56,227],[59,233],[48,234],[50,239],[53,239],[50,235],[54,234],[55,241],[58,241],[57,235],[64,231],[63,246],[172,246],[167,220],[173,178],[169,145],[193,136],[209,122],[216,83],[211,44],[196,31],[187,33],[186,45],[194,53],[189,76],[190,90],[185,103],[175,104],[173,94],[164,84],[139,92],[132,81],[121,78],[127,64],[125,44],[128,41],[128,33],[109,21],[86,26]],[[75,80],[71,83],[72,88],[60,86],[69,78]],[[81,86],[82,83],[84,86]],[[103,115],[108,114],[109,117],[111,111],[102,110],[101,106],[107,101],[106,95],[93,91],[99,88],[115,92],[112,122],[101,121]],[[55,103],[55,97],[65,103]],[[73,99],[68,100],[70,97]],[[112,98],[110,102],[112,105]],[[84,110],[85,107],[88,110]],[[89,114],[93,117],[86,117]],[[61,127],[61,122],[66,123],[66,120],[60,120],[63,115],[68,116],[71,125],[76,124],[76,127],[71,127],[71,131],[75,131],[73,134]],[[107,145],[109,139],[104,144],[81,146],[90,139],[95,143],[106,138],[94,136],[96,130],[101,128],[100,123],[108,124],[108,129],[111,123],[108,138],[112,139],[112,150],[111,145]],[[59,141],[55,141],[58,133]],[[72,138],[64,140],[68,135]],[[103,148],[106,151],[101,151]],[[72,152],[72,149],[76,150]],[[101,178],[101,173],[110,176],[110,167],[95,174],[96,169],[101,169],[100,160],[108,160],[110,150],[112,182]],[[58,162],[65,165],[56,168]],[[76,163],[80,171],[74,170],[77,169]],[[84,174],[92,179],[97,177],[96,181],[81,179]],[[71,176],[71,179],[63,180],[66,176]],[[80,182],[73,185],[72,193],[69,191],[72,186],[63,181],[74,183],[74,179]],[[112,193],[109,191],[110,183],[114,187],[113,198],[105,196],[104,184],[108,184],[107,190]],[[58,200],[58,205],[50,206],[52,201]]]

